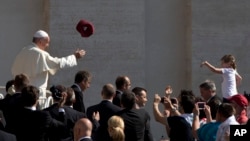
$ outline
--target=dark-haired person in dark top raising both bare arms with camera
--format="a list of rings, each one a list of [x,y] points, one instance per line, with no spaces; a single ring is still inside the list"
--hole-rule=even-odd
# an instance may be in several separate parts
[[[155,94],[153,112],[155,120],[166,126],[171,141],[194,141],[192,135],[193,108],[195,96],[192,91],[182,90],[179,95],[179,108],[170,98],[164,98],[164,105],[170,109],[170,115],[164,116],[159,110],[161,97]]]

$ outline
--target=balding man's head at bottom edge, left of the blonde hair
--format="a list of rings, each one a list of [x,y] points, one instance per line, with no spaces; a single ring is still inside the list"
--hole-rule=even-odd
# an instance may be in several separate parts
[[[93,129],[92,123],[88,118],[79,119],[74,126],[74,140],[93,141],[91,139],[92,129]]]

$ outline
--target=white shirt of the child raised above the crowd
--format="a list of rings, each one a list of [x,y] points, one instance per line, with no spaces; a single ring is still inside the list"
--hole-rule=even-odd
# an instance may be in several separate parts
[[[233,68],[222,68],[223,82],[221,84],[221,91],[223,98],[228,99],[229,97],[238,94],[236,74],[238,73]]]

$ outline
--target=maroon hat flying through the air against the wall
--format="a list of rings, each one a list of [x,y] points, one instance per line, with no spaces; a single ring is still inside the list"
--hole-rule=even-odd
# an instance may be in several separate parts
[[[82,37],[89,37],[94,33],[95,29],[92,23],[82,19],[76,25],[76,30],[81,34]]]

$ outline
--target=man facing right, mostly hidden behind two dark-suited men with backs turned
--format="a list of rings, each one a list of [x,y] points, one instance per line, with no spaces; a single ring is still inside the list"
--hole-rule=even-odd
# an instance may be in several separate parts
[[[118,76],[115,80],[116,94],[113,99],[113,104],[121,107],[121,96],[123,91],[129,90],[131,87],[131,82],[128,76]]]

